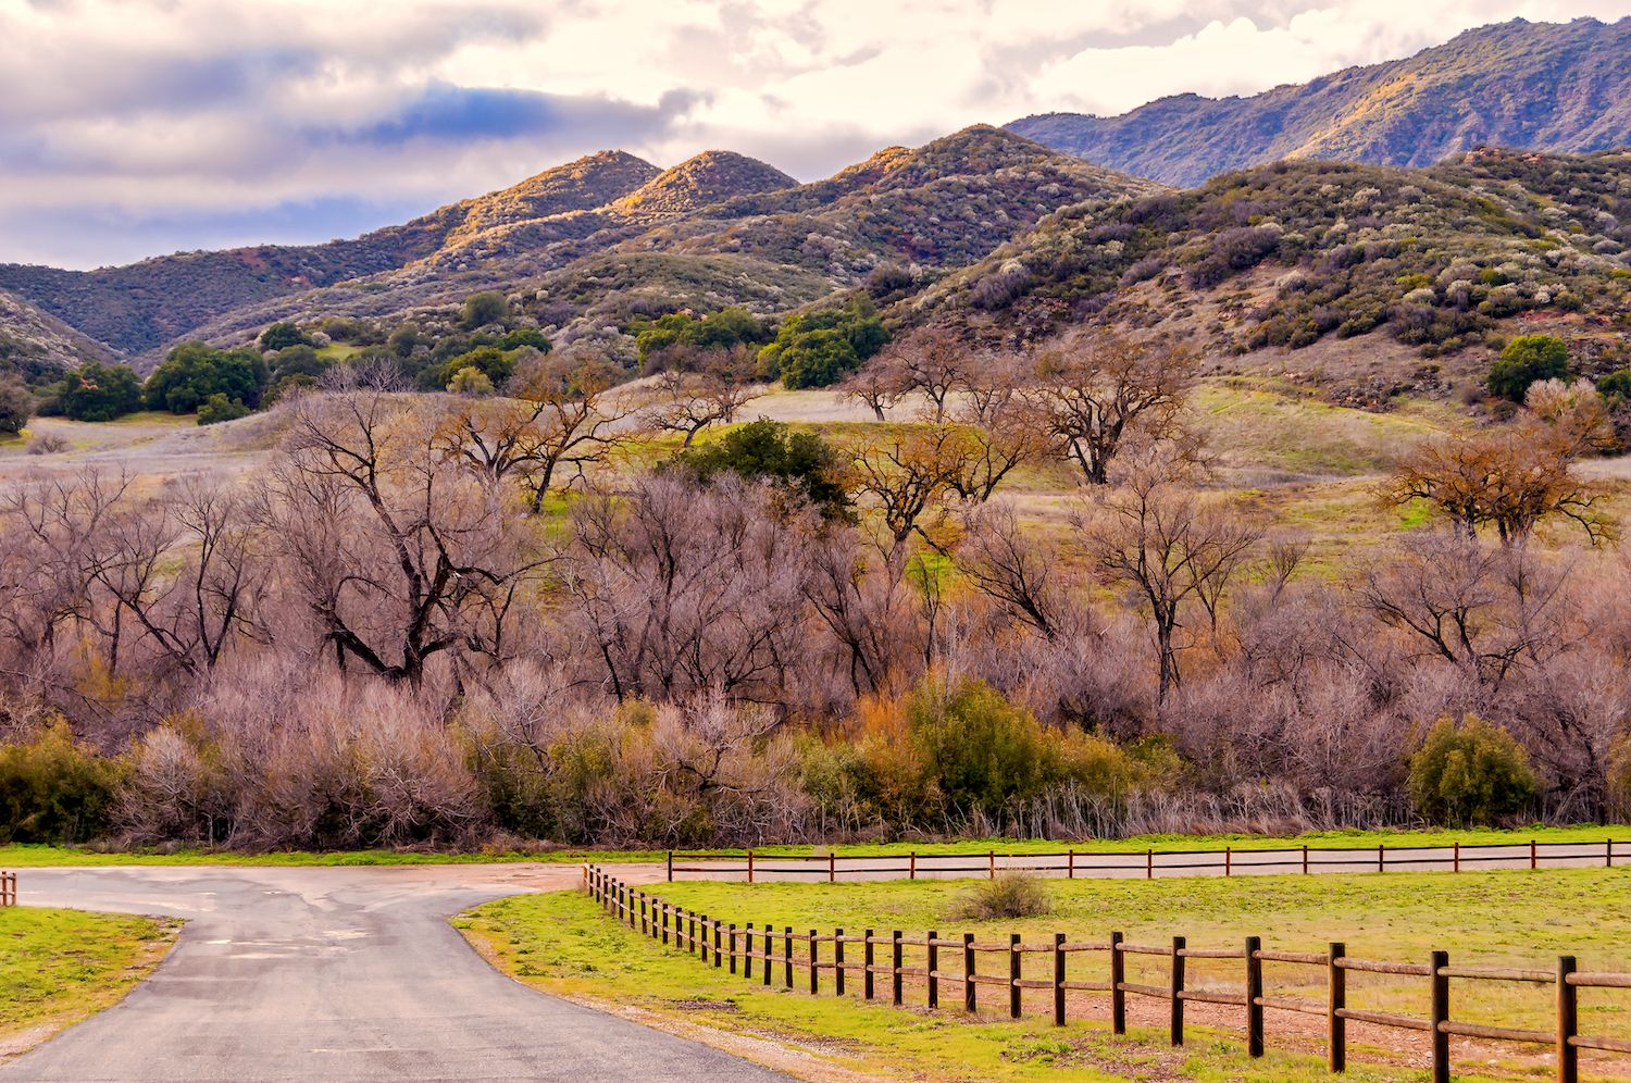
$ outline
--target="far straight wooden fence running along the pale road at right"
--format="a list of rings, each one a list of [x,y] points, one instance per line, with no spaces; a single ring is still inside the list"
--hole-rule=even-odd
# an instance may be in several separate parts
[[[1476,868],[1615,868],[1631,858],[1624,840],[1447,843],[1439,847],[1285,847],[1275,850],[1060,850],[1055,853],[884,853],[884,855],[758,855],[670,850],[669,879],[951,879],[997,877],[1000,873],[1042,876],[1145,877],[1244,876],[1253,873],[1386,873]]]

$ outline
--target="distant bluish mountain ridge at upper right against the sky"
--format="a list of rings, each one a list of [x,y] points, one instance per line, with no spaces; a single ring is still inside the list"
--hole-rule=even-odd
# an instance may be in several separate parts
[[[1249,98],[1161,98],[1112,117],[1049,113],[1010,130],[1192,186],[1280,158],[1432,165],[1473,147],[1587,153],[1631,145],[1631,18],[1466,31],[1406,60]]]

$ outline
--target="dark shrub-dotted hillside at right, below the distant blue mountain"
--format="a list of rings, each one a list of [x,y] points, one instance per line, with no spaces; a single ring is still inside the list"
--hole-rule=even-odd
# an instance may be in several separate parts
[[[1018,338],[1116,323],[1385,403],[1470,378],[1515,329],[1579,339],[1587,369],[1626,364],[1628,246],[1628,152],[1287,161],[1065,209],[895,315],[995,318]]]

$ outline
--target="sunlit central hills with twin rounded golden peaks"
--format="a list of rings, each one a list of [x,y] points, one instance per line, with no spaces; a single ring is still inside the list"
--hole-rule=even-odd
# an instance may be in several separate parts
[[[232,343],[282,318],[409,318],[502,289],[558,343],[595,338],[621,357],[631,339],[620,328],[641,315],[724,305],[773,315],[879,267],[920,289],[1060,207],[1156,191],[987,126],[791,188],[762,163],[711,152],[608,206],[491,228],[400,271],[243,307],[196,333]],[[711,194],[727,197],[695,206]]]

